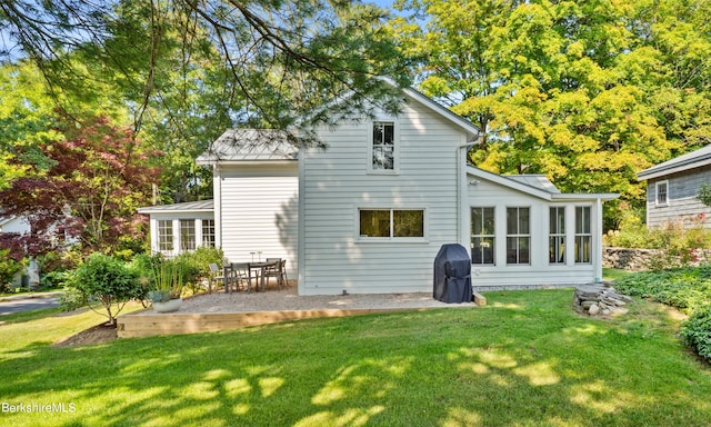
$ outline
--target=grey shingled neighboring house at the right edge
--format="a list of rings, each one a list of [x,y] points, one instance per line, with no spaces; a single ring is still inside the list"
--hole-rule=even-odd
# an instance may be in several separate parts
[[[647,181],[649,228],[681,221],[693,227],[700,214],[711,214],[697,199],[701,185],[711,183],[711,145],[642,170],[637,179]]]

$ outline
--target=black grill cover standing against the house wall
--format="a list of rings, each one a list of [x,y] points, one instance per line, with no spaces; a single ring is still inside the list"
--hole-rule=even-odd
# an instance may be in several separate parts
[[[471,259],[457,244],[442,245],[434,258],[434,299],[442,302],[471,302]]]

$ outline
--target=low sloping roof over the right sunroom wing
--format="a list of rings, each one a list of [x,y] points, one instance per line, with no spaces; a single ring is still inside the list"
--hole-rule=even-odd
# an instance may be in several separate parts
[[[620,195],[614,192],[602,192],[602,193],[573,193],[573,192],[560,192],[558,188],[543,175],[497,175],[493,172],[489,172],[483,169],[479,169],[474,166],[467,166],[467,173],[475,177],[485,179],[488,181],[498,183],[500,186],[521,191],[529,196],[538,197],[543,200],[567,200],[567,201],[575,201],[575,200],[613,200],[620,197]],[[470,181],[469,183],[475,185],[477,181]]]

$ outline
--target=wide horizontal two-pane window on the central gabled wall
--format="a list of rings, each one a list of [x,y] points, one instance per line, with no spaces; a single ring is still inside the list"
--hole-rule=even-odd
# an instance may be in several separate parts
[[[422,209],[360,209],[359,215],[360,237],[424,237],[424,210]]]

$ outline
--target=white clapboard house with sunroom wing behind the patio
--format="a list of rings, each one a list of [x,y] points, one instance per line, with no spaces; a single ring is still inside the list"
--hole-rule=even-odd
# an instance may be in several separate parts
[[[300,295],[431,291],[443,244],[470,248],[479,289],[601,279],[602,202],[617,195],[561,193],[543,176],[468,166],[478,129],[404,96],[397,117],[375,110],[321,129],[327,150],[297,150],[276,131],[222,135],[198,158],[213,167],[212,217],[199,214],[214,220],[216,245],[231,261],[286,258]],[[200,218],[183,208],[141,209],[154,249],[162,239],[174,251],[176,221]]]

